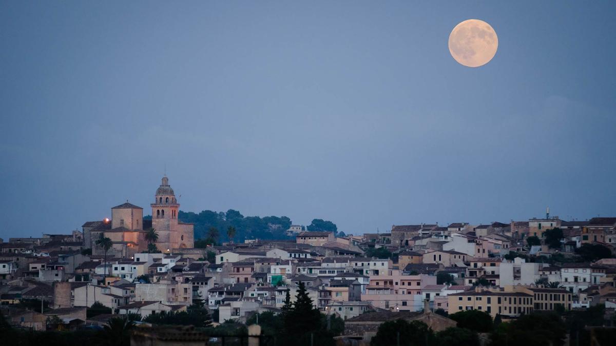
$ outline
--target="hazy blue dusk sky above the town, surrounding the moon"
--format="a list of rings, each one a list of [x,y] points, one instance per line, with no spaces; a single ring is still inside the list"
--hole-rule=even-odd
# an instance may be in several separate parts
[[[614,1],[2,1],[0,238],[150,203],[393,224],[616,216]],[[477,18],[487,65],[448,50]]]

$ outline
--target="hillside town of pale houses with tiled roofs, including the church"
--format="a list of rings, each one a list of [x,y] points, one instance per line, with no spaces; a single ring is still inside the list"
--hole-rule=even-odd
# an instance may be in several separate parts
[[[602,305],[607,321],[616,308],[616,217],[565,221],[548,212],[363,235],[291,225],[286,239],[236,243],[229,230],[221,244],[215,232],[209,243],[195,241],[193,224],[178,219],[168,177],[150,207],[151,219],[127,201],[81,230],[0,243],[0,300],[10,325],[73,330],[191,307],[206,310],[213,324],[249,324],[307,296],[323,315],[344,321],[340,338],[369,342],[387,321],[422,321],[438,332],[459,324],[448,317],[459,312],[514,321]]]

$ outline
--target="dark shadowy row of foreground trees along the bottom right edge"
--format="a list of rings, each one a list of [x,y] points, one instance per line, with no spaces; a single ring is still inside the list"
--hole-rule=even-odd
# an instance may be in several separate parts
[[[387,321],[379,326],[370,345],[400,346],[564,346],[567,334],[578,346],[611,345],[616,329],[602,328],[614,321],[604,320],[605,306],[596,305],[586,310],[563,312],[532,312],[503,322],[500,315],[492,316],[480,310],[465,310],[448,315],[457,322],[456,327],[433,332],[420,321]],[[591,332],[588,327],[595,326]],[[486,339],[481,342],[479,334]],[[593,342],[594,340],[594,342]]]

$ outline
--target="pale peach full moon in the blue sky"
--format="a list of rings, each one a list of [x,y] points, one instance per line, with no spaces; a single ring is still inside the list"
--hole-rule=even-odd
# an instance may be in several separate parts
[[[464,20],[449,34],[449,52],[456,62],[479,67],[492,60],[498,49],[498,37],[490,24],[479,19]]]

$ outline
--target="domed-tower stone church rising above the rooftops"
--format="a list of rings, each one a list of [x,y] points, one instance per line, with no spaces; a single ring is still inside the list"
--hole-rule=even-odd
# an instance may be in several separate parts
[[[152,219],[144,220],[144,209],[134,204],[120,204],[111,208],[111,219],[89,221],[82,225],[84,245],[92,249],[93,255],[104,254],[96,246],[100,235],[111,239],[113,245],[107,253],[110,257],[130,258],[134,254],[147,251],[145,234],[152,228],[158,233],[156,247],[163,252],[174,249],[194,247],[194,225],[177,220],[180,204],[164,175],[160,187],[156,189],[152,207]]]

